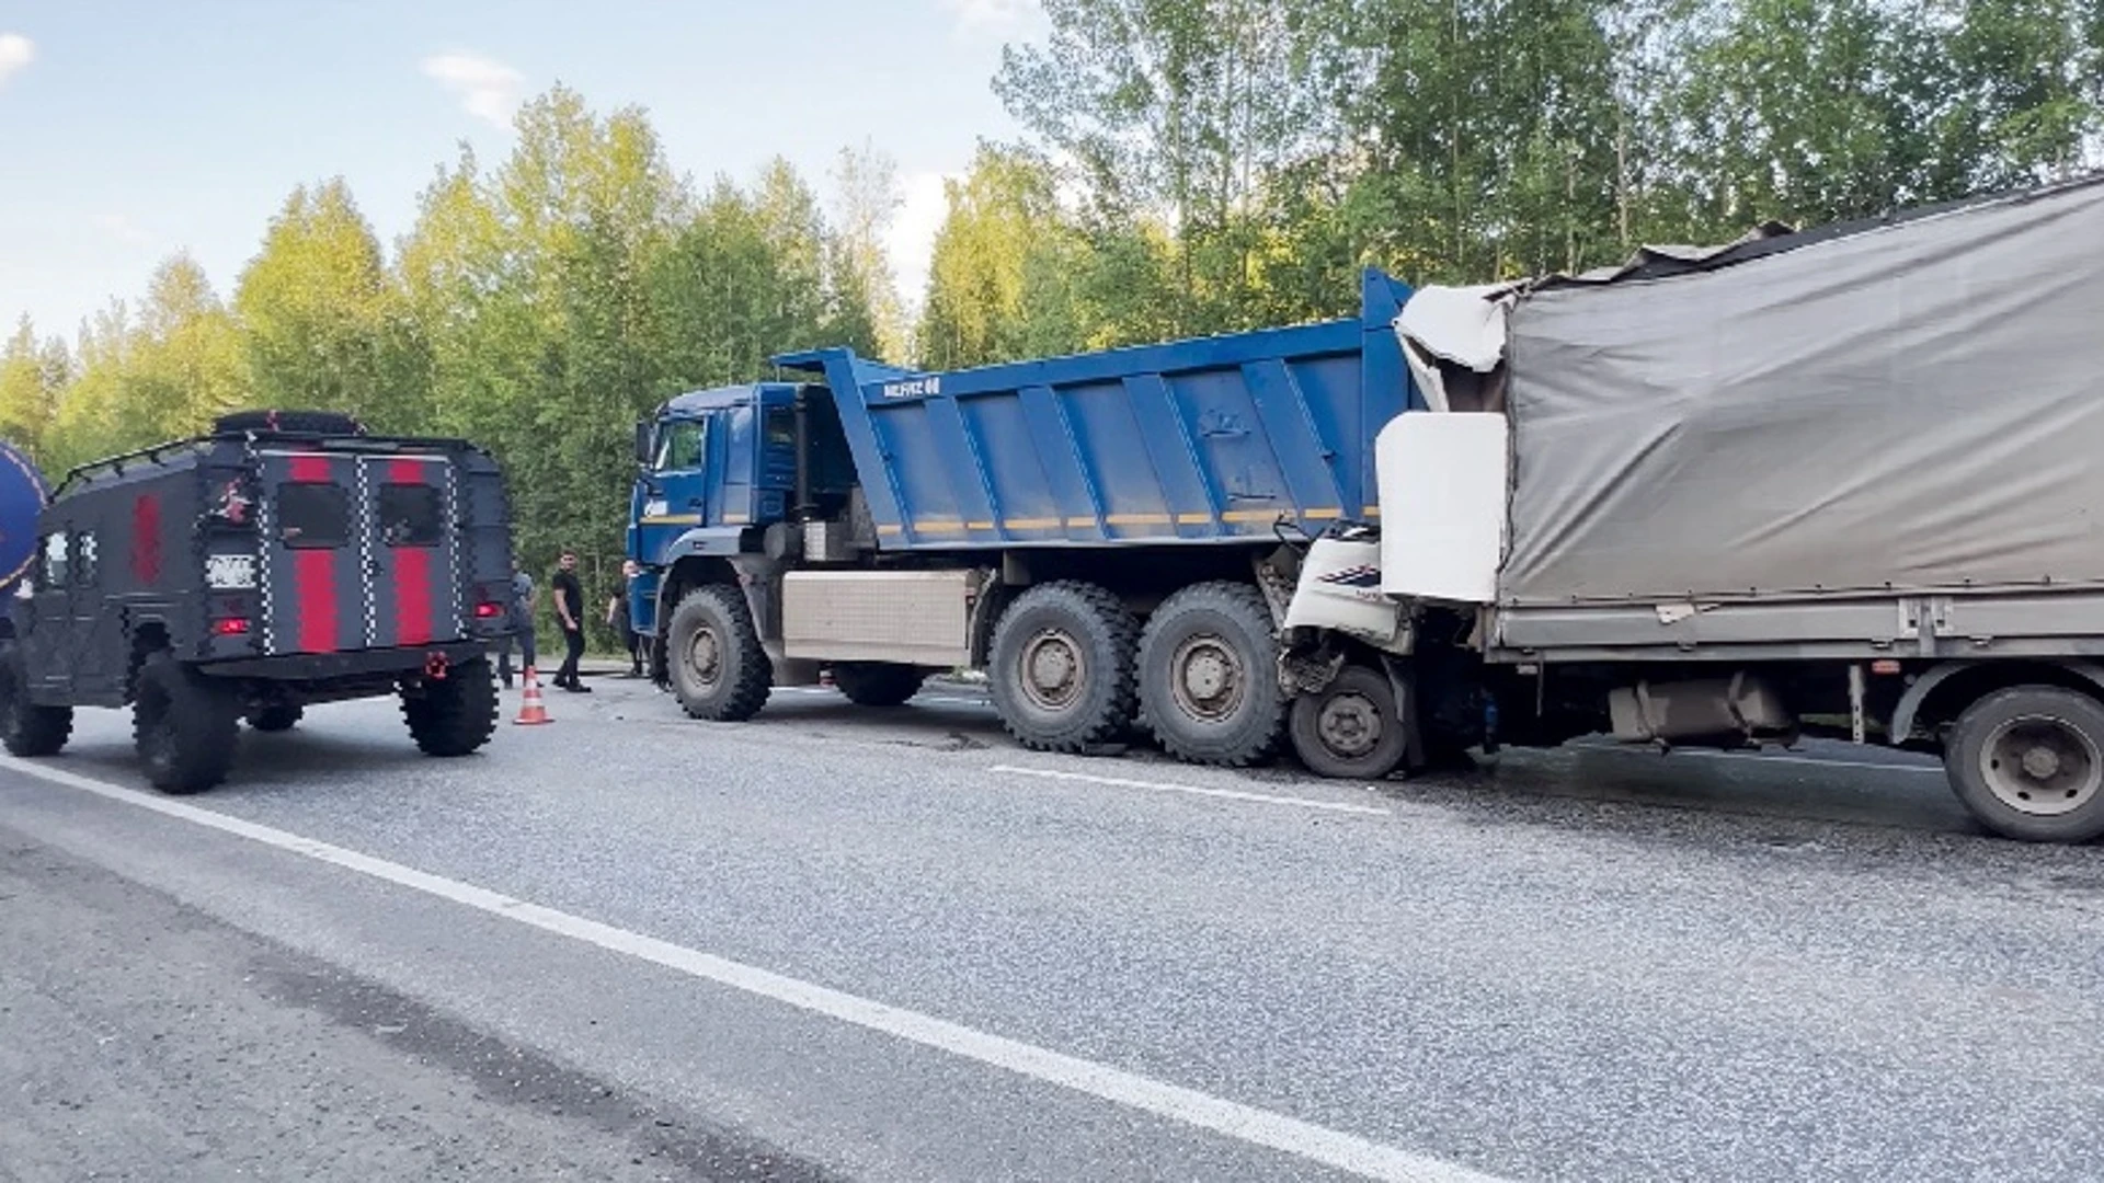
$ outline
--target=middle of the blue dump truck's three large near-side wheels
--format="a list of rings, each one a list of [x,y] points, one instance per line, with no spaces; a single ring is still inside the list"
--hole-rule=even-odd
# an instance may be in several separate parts
[[[989,690],[1002,724],[1035,751],[1088,751],[1132,722],[1140,625],[1094,583],[1016,596],[993,627]]]

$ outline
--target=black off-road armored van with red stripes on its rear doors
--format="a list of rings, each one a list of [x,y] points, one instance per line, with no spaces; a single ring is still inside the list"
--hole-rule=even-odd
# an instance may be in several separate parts
[[[74,707],[128,705],[147,779],[194,794],[225,779],[244,718],[284,730],[309,703],[400,695],[423,751],[465,756],[497,728],[509,577],[482,448],[227,415],[50,495],[0,627],[0,741],[50,756]]]

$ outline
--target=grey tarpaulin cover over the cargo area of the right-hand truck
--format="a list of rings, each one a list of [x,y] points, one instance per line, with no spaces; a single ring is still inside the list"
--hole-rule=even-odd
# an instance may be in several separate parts
[[[2104,183],[1761,250],[1513,309],[1502,602],[2104,583]]]

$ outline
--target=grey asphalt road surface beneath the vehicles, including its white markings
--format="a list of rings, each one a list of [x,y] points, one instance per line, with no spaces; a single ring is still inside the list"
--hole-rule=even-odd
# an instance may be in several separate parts
[[[2096,1179],[2104,850],[1852,749],[1351,785],[968,690],[0,764],[0,1179]],[[515,697],[507,695],[507,714]]]

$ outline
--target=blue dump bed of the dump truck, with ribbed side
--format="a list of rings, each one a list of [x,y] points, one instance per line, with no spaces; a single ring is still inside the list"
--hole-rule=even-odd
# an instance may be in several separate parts
[[[1380,514],[1408,297],[1368,269],[1351,320],[953,373],[774,362],[825,375],[879,549],[1248,543]]]

